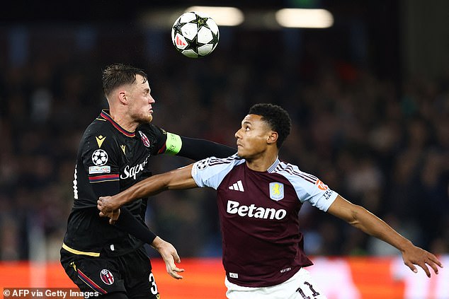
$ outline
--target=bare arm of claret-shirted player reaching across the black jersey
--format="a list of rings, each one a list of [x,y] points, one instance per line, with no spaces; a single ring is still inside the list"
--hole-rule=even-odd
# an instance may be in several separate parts
[[[120,206],[130,201],[142,197],[149,197],[168,189],[190,189],[198,187],[191,174],[192,166],[193,164],[148,177],[112,197],[100,197],[97,201],[100,216],[107,216],[111,221],[116,221],[120,215],[118,212]]]

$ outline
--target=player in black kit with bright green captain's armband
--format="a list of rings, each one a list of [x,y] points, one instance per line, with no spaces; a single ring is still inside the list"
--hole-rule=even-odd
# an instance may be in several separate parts
[[[127,204],[120,221],[109,225],[98,216],[98,197],[117,194],[149,177],[152,156],[168,153],[200,160],[214,154],[226,157],[235,150],[150,124],[154,99],[141,69],[108,66],[103,91],[110,110],[101,111],[81,138],[61,263],[81,291],[96,291],[105,298],[159,298],[144,242],[159,251],[171,276],[181,279],[177,272],[182,269],[176,268],[180,260],[175,248],[145,225],[147,200]]]

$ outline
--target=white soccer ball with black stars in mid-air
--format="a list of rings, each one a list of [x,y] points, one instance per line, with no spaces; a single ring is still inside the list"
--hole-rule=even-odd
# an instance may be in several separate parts
[[[217,23],[204,13],[183,13],[171,28],[171,41],[187,57],[206,56],[218,45]]]

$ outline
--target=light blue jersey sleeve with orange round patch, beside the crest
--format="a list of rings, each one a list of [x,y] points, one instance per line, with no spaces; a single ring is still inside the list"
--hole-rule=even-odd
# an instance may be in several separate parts
[[[295,187],[300,201],[309,201],[309,204],[312,204],[312,206],[326,212],[336,199],[338,193],[331,190],[314,175],[302,172],[296,166],[292,167],[294,169],[294,175],[289,180]]]

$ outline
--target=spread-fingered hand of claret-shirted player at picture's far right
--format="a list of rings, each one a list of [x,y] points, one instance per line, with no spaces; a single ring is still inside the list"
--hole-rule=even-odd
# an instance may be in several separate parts
[[[438,274],[438,266],[443,268],[443,264],[441,264],[435,255],[415,245],[407,247],[402,252],[402,259],[404,260],[404,264],[415,273],[418,272],[415,265],[420,266],[426,272],[427,277],[431,277],[431,271],[429,271],[428,266],[431,266],[435,274]]]

